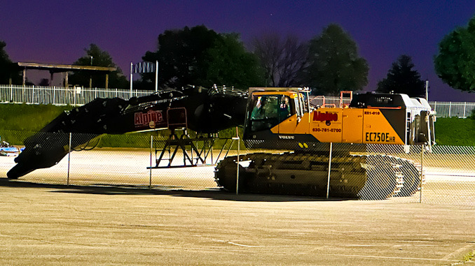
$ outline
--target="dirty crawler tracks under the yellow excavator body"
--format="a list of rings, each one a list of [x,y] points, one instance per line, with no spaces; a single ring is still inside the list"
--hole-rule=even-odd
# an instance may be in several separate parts
[[[236,189],[236,156],[224,158],[215,181],[226,191]],[[326,195],[329,157],[315,154],[246,154],[239,157],[239,191],[283,195]],[[385,200],[413,195],[420,170],[413,161],[386,155],[336,156],[331,160],[329,196]]]

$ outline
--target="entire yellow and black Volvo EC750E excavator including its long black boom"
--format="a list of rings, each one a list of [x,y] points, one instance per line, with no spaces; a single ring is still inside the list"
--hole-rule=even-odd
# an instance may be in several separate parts
[[[287,152],[227,156],[216,165],[214,175],[226,191],[238,186],[242,193],[322,196],[326,192],[331,197],[370,200],[412,195],[421,182],[418,165],[371,154],[366,147],[434,145],[435,113],[425,99],[405,94],[351,97],[349,105],[340,101],[337,107],[313,105],[308,89],[302,88],[243,91],[189,86],[128,101],[98,98],[64,112],[27,138],[7,176],[18,179],[51,167],[68,154],[69,147],[104,133],[173,129],[183,124],[198,133],[216,133],[244,125],[248,149]],[[82,138],[68,143],[65,133],[81,133]]]

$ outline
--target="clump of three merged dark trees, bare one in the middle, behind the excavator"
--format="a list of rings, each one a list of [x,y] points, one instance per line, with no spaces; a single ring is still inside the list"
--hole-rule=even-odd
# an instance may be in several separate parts
[[[312,87],[315,93],[361,90],[368,83],[366,60],[357,45],[336,24],[308,42],[296,36],[264,34],[254,38],[251,51],[238,34],[217,34],[205,26],[165,31],[156,51],[145,61],[158,61],[159,87],[186,84],[235,87]],[[153,83],[142,75],[142,86]]]

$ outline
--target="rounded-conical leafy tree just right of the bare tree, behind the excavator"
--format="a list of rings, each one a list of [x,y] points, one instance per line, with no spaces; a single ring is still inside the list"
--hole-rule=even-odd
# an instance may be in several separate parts
[[[313,94],[336,95],[368,84],[366,59],[359,57],[356,43],[337,24],[330,24],[310,40],[308,64],[304,81]]]

